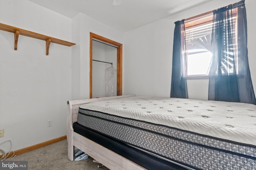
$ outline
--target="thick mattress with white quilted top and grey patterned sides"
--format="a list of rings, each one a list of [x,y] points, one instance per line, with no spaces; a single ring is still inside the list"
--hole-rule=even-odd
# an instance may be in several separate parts
[[[256,169],[256,106],[131,97],[80,106],[78,124],[192,169]]]

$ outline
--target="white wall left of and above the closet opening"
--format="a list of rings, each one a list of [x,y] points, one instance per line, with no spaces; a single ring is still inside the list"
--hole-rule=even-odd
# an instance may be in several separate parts
[[[118,43],[123,42],[123,33],[94,20],[82,13],[72,18],[72,99],[90,97],[90,32]]]

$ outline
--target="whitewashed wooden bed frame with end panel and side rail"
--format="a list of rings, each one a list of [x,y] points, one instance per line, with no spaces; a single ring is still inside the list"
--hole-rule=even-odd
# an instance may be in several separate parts
[[[104,101],[109,99],[128,98],[135,95],[114,96],[106,98],[93,98],[86,100],[68,101],[67,118],[67,140],[68,140],[68,158],[74,160],[74,147],[82,150],[107,168],[111,170],[145,170],[142,166],[116,154],[115,152],[102,147],[98,143],[87,139],[86,137],[74,132],[73,123],[77,121],[78,109],[82,104]]]

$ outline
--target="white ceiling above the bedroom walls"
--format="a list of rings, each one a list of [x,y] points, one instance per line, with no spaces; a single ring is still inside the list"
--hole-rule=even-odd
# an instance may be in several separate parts
[[[176,14],[210,0],[29,0],[40,6],[73,18],[79,12],[114,29],[126,32]]]

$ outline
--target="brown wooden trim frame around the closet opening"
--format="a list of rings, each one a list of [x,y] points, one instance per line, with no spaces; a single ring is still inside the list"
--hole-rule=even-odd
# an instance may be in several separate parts
[[[90,98],[92,98],[92,39],[102,41],[114,45],[117,48],[117,59],[116,59],[116,95],[122,95],[122,55],[123,55],[123,45],[111,39],[107,39],[100,35],[90,32]]]

